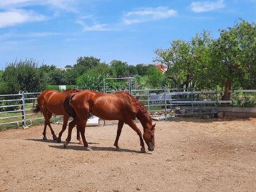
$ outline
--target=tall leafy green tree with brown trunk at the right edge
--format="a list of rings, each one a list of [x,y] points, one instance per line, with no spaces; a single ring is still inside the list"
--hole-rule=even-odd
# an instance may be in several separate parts
[[[230,100],[233,87],[244,86],[243,82],[256,82],[255,30],[254,23],[241,21],[233,27],[220,30],[220,38],[214,41],[213,70],[210,74],[218,77],[216,84],[224,89],[223,100]]]

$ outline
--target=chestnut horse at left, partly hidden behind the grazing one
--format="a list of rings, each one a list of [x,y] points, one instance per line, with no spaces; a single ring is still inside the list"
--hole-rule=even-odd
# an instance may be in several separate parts
[[[34,113],[39,113],[39,111],[41,111],[44,115],[44,132],[42,132],[42,135],[44,135],[44,137],[42,138],[43,140],[47,140],[46,127],[49,126],[50,132],[52,132],[53,139],[57,140],[57,142],[61,142],[62,133],[65,131],[66,125],[68,124],[68,119],[70,118],[70,116],[68,115],[68,113],[66,113],[64,109],[64,100],[71,93],[76,93],[79,91],[81,90],[67,89],[64,92],[58,92],[57,90],[46,90],[38,96],[38,104],[36,105],[36,108],[33,109],[33,111]],[[50,126],[50,118],[52,118],[53,113],[57,115],[63,115],[63,126],[60,134],[58,134],[58,138],[56,137],[52,126]],[[76,127],[76,129],[77,139],[79,140],[79,143],[82,143],[78,127]]]

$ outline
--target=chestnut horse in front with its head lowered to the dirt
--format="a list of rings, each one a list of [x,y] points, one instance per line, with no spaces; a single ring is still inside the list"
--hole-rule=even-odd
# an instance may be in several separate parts
[[[95,92],[92,90],[83,90],[76,94],[70,94],[66,97],[64,106],[70,116],[73,116],[73,121],[68,124],[68,137],[64,147],[68,145],[71,140],[71,132],[73,127],[78,124],[81,131],[82,141],[86,150],[91,151],[92,149],[86,142],[84,135],[87,118],[89,113],[98,116],[98,118],[105,120],[118,120],[118,132],[114,146],[119,149],[118,140],[122,131],[124,123],[128,124],[132,129],[137,132],[140,138],[141,151],[145,153],[145,145],[143,138],[148,145],[148,150],[154,150],[154,127],[152,125],[152,119],[145,106],[140,103],[137,98],[127,92],[116,92],[114,94],[105,94],[101,92]],[[142,132],[136,126],[134,119],[138,118],[143,126],[143,138]]]

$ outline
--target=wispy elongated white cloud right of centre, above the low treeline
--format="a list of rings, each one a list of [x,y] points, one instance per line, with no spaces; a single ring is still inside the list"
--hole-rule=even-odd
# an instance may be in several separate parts
[[[124,14],[123,21],[127,25],[134,23],[150,22],[177,15],[177,10],[168,7],[145,8]]]

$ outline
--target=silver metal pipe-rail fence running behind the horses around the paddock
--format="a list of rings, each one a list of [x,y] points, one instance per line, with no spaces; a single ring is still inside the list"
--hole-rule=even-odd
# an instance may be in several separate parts
[[[108,90],[107,92],[114,92]],[[256,90],[233,90],[231,100],[222,101],[223,91],[217,90],[177,90],[146,89],[130,90],[130,93],[145,105],[153,118],[164,119],[174,116],[216,114],[218,106],[224,104],[256,105]],[[0,130],[9,127],[27,127],[44,119],[42,114],[31,110],[40,92],[0,95]],[[55,119],[54,119],[55,122]]]

